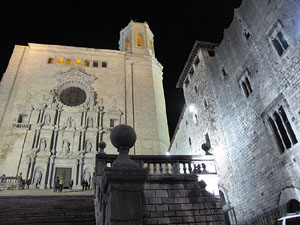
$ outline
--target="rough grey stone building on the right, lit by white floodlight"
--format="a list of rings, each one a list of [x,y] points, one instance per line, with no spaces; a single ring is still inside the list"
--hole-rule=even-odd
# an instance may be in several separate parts
[[[219,45],[196,41],[177,83],[170,154],[213,154],[227,224],[300,209],[300,2],[244,0]]]

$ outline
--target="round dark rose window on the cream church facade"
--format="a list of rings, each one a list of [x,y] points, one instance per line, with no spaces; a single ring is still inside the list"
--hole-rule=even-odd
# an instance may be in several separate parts
[[[68,106],[78,106],[84,103],[86,94],[84,90],[78,87],[69,87],[60,94],[60,101]]]

